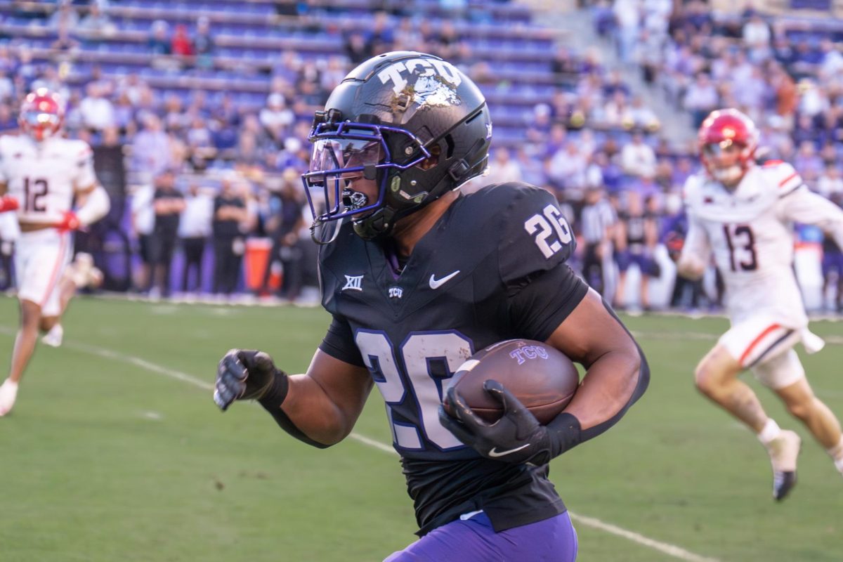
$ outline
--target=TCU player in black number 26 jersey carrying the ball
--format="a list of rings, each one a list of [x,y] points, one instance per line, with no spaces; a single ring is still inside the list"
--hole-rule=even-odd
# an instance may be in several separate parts
[[[390,562],[573,560],[576,534],[548,463],[613,426],[649,372],[566,265],[575,243],[555,198],[517,182],[460,193],[486,169],[491,119],[475,84],[436,56],[363,62],[316,113],[310,140],[303,182],[333,321],[304,374],[264,352],[229,351],[217,405],[257,399],[285,431],[329,447],[377,386],[421,536]],[[505,413],[491,425],[448,390],[475,351],[517,337],[588,369],[547,426],[494,381],[486,391]],[[445,392],[454,418],[441,409]]]

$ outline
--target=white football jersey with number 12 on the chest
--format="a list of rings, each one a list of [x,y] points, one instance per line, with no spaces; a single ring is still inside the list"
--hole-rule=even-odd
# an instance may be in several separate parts
[[[20,222],[59,222],[76,191],[97,183],[94,153],[84,141],[0,136],[0,182],[19,201]]]

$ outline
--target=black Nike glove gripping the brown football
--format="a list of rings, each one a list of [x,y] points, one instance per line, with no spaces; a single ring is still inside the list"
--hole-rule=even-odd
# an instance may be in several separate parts
[[[448,388],[448,401],[456,417],[439,406],[439,421],[459,441],[486,458],[504,463],[545,464],[552,458],[550,434],[501,383],[489,380],[483,389],[503,406],[503,415],[493,424],[477,417],[456,388]]]

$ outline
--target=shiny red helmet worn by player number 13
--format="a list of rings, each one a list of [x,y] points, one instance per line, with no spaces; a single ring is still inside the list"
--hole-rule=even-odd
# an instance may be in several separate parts
[[[697,135],[702,164],[714,179],[738,185],[754,163],[758,137],[758,128],[740,111],[712,111]]]

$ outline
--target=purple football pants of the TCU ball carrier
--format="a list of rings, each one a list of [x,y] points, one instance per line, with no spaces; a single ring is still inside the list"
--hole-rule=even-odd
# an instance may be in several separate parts
[[[482,511],[437,527],[384,562],[573,562],[577,532],[567,512],[495,533]]]

